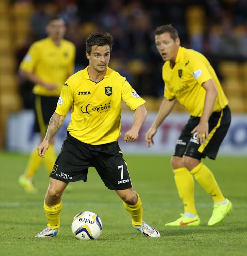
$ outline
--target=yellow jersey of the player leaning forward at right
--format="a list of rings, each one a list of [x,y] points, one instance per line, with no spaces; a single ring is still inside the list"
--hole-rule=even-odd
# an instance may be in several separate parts
[[[166,61],[162,77],[165,82],[164,97],[168,100],[176,98],[192,116],[202,115],[206,94],[202,84],[209,79],[213,79],[218,89],[213,111],[221,111],[228,104],[214,69],[206,57],[197,51],[180,46],[175,66],[171,68],[170,61]]]

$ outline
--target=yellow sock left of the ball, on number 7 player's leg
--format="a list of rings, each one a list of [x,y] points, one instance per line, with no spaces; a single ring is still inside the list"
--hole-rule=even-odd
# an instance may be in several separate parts
[[[60,203],[53,205],[53,206],[47,206],[44,202],[44,210],[46,217],[48,219],[47,226],[49,228],[53,229],[59,229],[60,227],[60,212],[62,210],[62,200]]]

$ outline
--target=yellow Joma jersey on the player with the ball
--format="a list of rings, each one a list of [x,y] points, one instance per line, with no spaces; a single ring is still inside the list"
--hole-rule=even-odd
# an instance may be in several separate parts
[[[65,116],[72,106],[67,130],[73,137],[91,145],[110,143],[120,136],[121,99],[132,110],[145,100],[118,72],[107,67],[104,78],[95,83],[88,67],[66,81],[55,112]]]

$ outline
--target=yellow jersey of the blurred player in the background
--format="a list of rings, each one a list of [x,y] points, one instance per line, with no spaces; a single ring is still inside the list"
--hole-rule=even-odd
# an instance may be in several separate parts
[[[75,46],[65,39],[60,46],[54,44],[50,37],[33,43],[20,68],[34,73],[46,83],[57,84],[55,90],[47,90],[35,84],[33,93],[43,96],[59,96],[64,81],[74,73]]]

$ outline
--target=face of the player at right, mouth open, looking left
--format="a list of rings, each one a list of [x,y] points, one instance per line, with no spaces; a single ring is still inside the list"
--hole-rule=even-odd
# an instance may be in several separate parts
[[[175,63],[180,45],[179,38],[174,41],[171,38],[170,33],[166,32],[161,35],[155,35],[155,44],[164,61],[170,60],[171,62]]]

